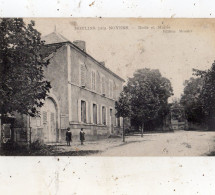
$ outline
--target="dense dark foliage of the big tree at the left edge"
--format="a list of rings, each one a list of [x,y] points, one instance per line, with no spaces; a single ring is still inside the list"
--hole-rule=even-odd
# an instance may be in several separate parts
[[[44,79],[44,47],[31,21],[21,18],[0,20],[0,113],[17,111],[34,116],[43,105],[50,83]]]

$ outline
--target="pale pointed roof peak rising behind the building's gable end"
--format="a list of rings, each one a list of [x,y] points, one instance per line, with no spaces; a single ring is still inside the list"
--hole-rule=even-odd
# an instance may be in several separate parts
[[[69,41],[67,38],[65,38],[63,35],[55,32],[52,32],[46,36],[42,37],[42,40],[45,41],[45,44],[53,44],[53,43],[61,43],[61,42],[67,42]]]

